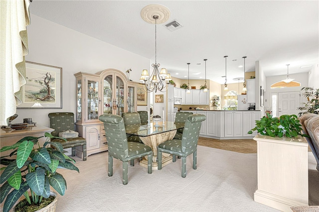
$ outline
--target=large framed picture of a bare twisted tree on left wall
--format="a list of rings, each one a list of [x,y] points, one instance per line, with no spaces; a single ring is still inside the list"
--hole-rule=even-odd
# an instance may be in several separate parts
[[[26,84],[17,108],[62,108],[62,68],[25,62]]]

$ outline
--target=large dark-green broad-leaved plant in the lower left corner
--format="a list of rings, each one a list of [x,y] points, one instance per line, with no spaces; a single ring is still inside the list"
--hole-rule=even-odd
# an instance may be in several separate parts
[[[23,207],[34,207],[32,212],[45,207],[41,202],[50,197],[50,186],[61,196],[66,190],[66,181],[56,170],[65,168],[79,172],[73,165],[75,161],[63,153],[62,145],[50,141],[50,138],[56,137],[47,132],[45,137],[42,147],[38,142],[41,137],[28,136],[0,149],[0,152],[13,150],[8,156],[1,156],[0,161],[4,166],[0,176],[1,203],[5,199],[3,212],[8,212],[22,195],[25,197],[23,201],[27,202]],[[15,206],[15,211],[18,205],[24,204],[23,201]]]

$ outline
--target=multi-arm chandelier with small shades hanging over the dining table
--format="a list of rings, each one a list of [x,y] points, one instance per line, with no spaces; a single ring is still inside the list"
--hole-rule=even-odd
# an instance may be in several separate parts
[[[165,68],[162,68],[159,71],[160,64],[157,63],[157,37],[156,37],[156,24],[159,15],[153,15],[155,19],[155,63],[152,64],[154,68],[151,76],[149,76],[148,70],[144,69],[140,78],[141,83],[144,85],[144,90],[146,92],[166,92],[167,91],[167,82],[171,80],[170,74],[167,73]]]

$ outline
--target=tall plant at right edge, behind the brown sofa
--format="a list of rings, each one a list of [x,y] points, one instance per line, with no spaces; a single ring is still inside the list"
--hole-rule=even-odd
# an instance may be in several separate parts
[[[301,91],[305,91],[303,93],[303,96],[307,98],[308,102],[303,103],[305,106],[301,106],[297,108],[299,110],[304,110],[298,113],[298,116],[301,116],[306,113],[319,114],[319,111],[315,111],[316,109],[319,109],[319,89],[304,87],[301,89]]]

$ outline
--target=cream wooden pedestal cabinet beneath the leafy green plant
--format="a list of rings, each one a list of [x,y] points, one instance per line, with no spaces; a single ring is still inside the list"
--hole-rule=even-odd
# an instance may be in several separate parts
[[[305,138],[257,134],[258,189],[255,202],[291,211],[308,206],[308,143]]]

